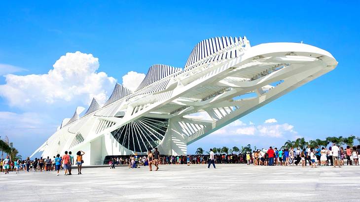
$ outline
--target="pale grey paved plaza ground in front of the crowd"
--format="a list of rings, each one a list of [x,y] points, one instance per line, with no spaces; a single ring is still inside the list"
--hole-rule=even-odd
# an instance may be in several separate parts
[[[360,201],[360,166],[164,165],[156,172],[117,167],[82,173],[0,173],[0,201]]]

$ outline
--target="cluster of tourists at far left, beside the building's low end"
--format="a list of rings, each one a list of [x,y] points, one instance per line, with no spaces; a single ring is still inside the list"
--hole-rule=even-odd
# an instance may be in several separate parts
[[[43,159],[40,157],[39,159],[35,158],[33,161],[30,160],[29,157],[26,160],[17,159],[11,161],[10,158],[6,156],[5,159],[0,161],[0,171],[7,174],[9,171],[19,173],[20,171],[30,172],[32,170],[40,172],[56,170],[57,175],[59,175],[60,169],[64,169],[65,175],[71,175],[72,166],[75,163],[75,165],[77,165],[77,174],[81,174],[81,165],[83,163],[82,155],[84,154],[85,153],[83,151],[78,151],[76,153],[77,156],[75,160],[71,151],[65,151],[65,154],[61,157],[60,154],[57,154],[53,157],[53,159],[50,159],[49,157]]]

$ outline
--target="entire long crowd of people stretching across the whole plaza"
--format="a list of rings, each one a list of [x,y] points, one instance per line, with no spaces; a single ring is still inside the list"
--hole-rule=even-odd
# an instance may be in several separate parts
[[[59,175],[60,169],[64,169],[65,175],[72,175],[72,166],[77,165],[77,174],[81,174],[81,167],[83,164],[82,156],[85,153],[78,151],[76,158],[72,156],[71,151],[65,151],[63,156],[57,154],[52,159],[47,157],[43,159],[35,158],[30,160],[28,157],[26,160],[15,160],[7,156],[0,161],[0,171],[7,174],[9,171],[50,171],[56,170]],[[115,168],[115,165],[127,165],[129,168],[140,168],[140,166],[149,166],[149,170],[152,171],[152,165],[155,166],[155,170],[159,169],[159,165],[182,165],[187,164],[208,164],[208,168],[215,164],[247,164],[254,166],[302,166],[306,167],[309,164],[310,167],[317,166],[333,166],[341,167],[345,165],[358,165],[360,159],[360,145],[357,147],[347,146],[343,148],[335,143],[332,146],[326,148],[317,146],[311,148],[300,149],[297,148],[273,148],[258,149],[252,152],[240,153],[240,154],[214,154],[210,149],[208,155],[183,155],[183,156],[168,156],[160,155],[160,152],[155,148],[154,152],[149,150],[147,155],[135,155],[130,156],[112,156],[108,162],[110,168]]]

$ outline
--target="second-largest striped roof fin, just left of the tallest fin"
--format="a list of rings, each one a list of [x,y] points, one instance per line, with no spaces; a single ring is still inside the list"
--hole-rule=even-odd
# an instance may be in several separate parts
[[[147,71],[144,80],[141,82],[141,84],[136,89],[136,91],[177,71],[181,71],[181,68],[171,67],[168,65],[160,65],[160,64],[153,65]]]

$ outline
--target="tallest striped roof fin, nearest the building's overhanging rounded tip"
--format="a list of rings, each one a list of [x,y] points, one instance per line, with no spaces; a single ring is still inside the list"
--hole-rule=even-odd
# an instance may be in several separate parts
[[[209,38],[205,39],[203,41],[200,41],[194,49],[191,51],[189,58],[186,61],[185,68],[191,66],[192,64],[206,58],[207,56],[210,56],[230,45],[235,44],[236,42],[242,43],[241,37],[231,37],[231,36],[221,36],[221,37],[215,37],[215,38]],[[229,53],[229,56],[225,55],[226,58],[234,58],[237,57],[237,54],[239,54],[237,51],[234,51],[234,54],[232,52]],[[223,57],[223,56],[221,56]],[[218,60],[217,58],[216,60]]]

